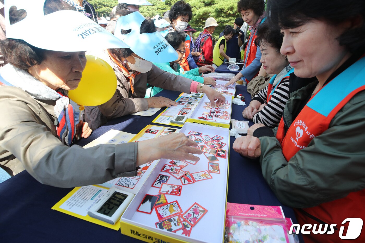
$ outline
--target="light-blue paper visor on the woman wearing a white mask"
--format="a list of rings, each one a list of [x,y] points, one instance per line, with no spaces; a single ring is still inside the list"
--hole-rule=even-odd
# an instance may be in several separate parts
[[[114,35],[127,43],[135,54],[147,61],[172,62],[177,60],[178,54],[160,32],[139,33],[144,20],[146,20],[145,17],[139,12],[120,16],[116,22]],[[121,30],[131,30],[131,32],[122,35]]]

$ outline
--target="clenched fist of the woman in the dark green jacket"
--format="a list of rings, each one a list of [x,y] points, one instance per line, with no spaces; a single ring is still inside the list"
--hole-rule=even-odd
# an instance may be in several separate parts
[[[237,138],[233,143],[233,149],[250,159],[260,157],[261,155],[260,140],[250,135]]]

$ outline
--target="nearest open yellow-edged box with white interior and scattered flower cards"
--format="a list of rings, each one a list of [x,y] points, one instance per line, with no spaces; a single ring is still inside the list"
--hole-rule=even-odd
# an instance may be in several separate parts
[[[166,168],[165,165],[171,165],[170,162],[173,161],[160,159],[120,218],[121,233],[145,242],[223,242],[228,183],[229,130],[185,123],[180,132],[189,136],[189,139],[199,142],[198,146],[209,146],[210,143],[205,142],[208,140],[219,144],[222,146],[221,150],[226,152],[223,155],[219,154],[222,157],[218,157],[218,149],[217,155],[210,154],[212,152],[209,149],[210,153],[197,155],[200,158],[198,162],[180,161],[186,162],[181,170],[189,173],[190,181],[185,180],[186,174],[180,180],[171,173],[161,171]],[[179,163],[179,161],[174,162]],[[162,182],[158,180],[161,178],[160,175],[169,176],[166,184],[181,186],[180,190],[173,194],[166,194],[163,189],[166,184],[161,184]],[[202,176],[199,177],[199,175]],[[155,204],[160,203],[161,200],[149,202],[145,200],[147,194],[149,196],[164,195],[166,203],[156,206]],[[144,203],[147,203],[148,207],[143,206],[144,209],[148,208],[147,212],[141,212]],[[170,204],[174,204],[174,206],[170,206]],[[197,221],[190,225],[181,217],[185,215],[189,219],[188,214],[191,211],[194,212],[194,205],[199,205],[199,214],[202,214],[193,215],[192,217],[196,217]],[[160,211],[160,207],[165,206],[166,209]]]

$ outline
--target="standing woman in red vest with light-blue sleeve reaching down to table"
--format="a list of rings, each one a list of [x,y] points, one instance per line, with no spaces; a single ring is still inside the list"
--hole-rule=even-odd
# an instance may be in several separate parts
[[[237,11],[241,13],[243,21],[250,27],[250,37],[245,49],[245,63],[241,72],[237,73],[225,86],[234,84],[240,78],[247,83],[257,76],[260,71],[261,51],[255,45],[257,27],[265,21],[264,18],[265,2],[264,0],[239,0]]]

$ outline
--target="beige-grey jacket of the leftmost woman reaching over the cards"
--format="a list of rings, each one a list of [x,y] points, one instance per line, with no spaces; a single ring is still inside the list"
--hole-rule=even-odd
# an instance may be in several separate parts
[[[43,184],[66,188],[136,175],[138,143],[68,147],[56,134],[54,105],[0,86],[0,166],[9,174],[26,169]]]

